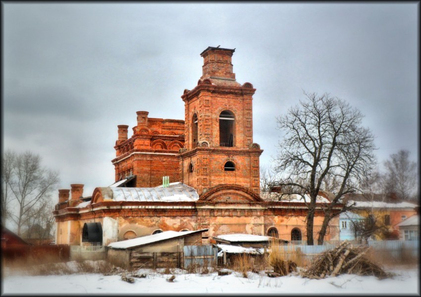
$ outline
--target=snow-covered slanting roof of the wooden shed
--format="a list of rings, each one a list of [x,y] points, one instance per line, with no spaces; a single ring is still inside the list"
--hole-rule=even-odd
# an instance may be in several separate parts
[[[138,237],[134,239],[124,240],[120,242],[111,243],[108,245],[108,247],[111,248],[130,248],[130,247],[139,247],[139,246],[145,246],[149,244],[153,244],[156,242],[160,242],[163,240],[173,239],[181,236],[185,236],[192,233],[197,232],[205,232],[208,231],[208,229],[201,229],[201,230],[195,230],[195,231],[183,231],[183,232],[176,232],[176,231],[164,231],[158,234]]]

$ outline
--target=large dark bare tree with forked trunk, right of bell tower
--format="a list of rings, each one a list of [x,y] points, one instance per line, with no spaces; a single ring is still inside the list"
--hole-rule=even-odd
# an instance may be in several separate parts
[[[328,94],[307,94],[306,100],[279,116],[278,129],[285,132],[275,159],[276,171],[284,176],[278,185],[288,193],[310,197],[306,217],[307,244],[314,245],[316,198],[329,191],[330,202],[323,204],[324,219],[318,235],[321,245],[329,221],[352,206],[340,203],[358,190],[361,178],[375,164],[373,135],[362,127],[363,115]],[[328,187],[328,189],[323,188]],[[341,207],[340,211],[334,208]]]

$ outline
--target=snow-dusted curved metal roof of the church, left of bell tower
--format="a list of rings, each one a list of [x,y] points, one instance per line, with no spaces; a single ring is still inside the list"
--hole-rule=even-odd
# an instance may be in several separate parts
[[[155,188],[123,188],[109,187],[112,196],[104,193],[105,199],[114,201],[142,201],[142,202],[176,202],[197,201],[199,195],[196,190],[182,183],[171,183],[168,187]]]

